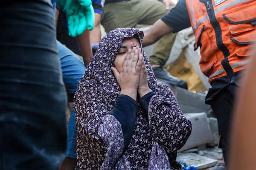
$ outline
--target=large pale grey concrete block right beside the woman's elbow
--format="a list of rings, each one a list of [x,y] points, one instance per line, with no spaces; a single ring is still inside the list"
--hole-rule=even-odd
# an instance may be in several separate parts
[[[186,144],[179,150],[187,150],[212,142],[212,132],[207,120],[206,113],[184,114],[192,123],[192,132]]]

